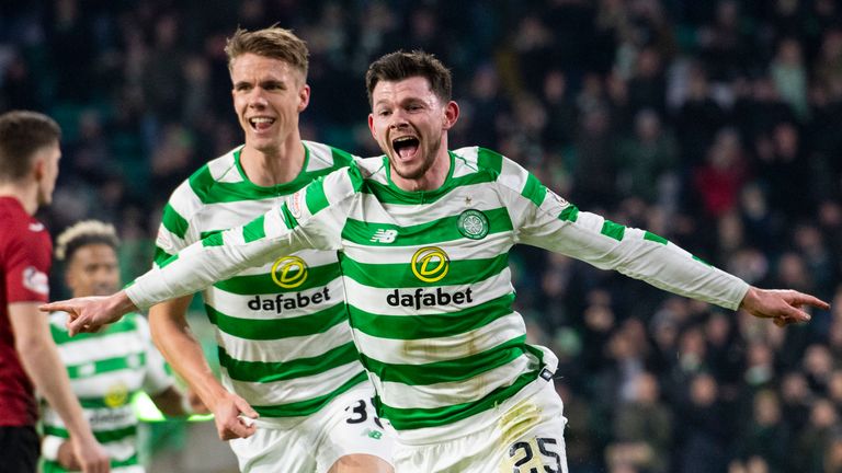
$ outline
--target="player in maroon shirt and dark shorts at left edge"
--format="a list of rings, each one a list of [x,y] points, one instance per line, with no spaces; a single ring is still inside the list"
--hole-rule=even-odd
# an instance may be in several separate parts
[[[32,216],[53,200],[61,131],[49,117],[0,115],[0,472],[34,473],[39,440],[33,383],[70,432],[82,471],[107,472],[38,304],[49,297],[53,244]]]

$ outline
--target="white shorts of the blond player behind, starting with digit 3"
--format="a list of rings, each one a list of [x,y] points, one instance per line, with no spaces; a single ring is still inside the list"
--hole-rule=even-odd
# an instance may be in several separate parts
[[[304,419],[261,422],[246,439],[229,443],[240,471],[323,473],[341,457],[362,453],[391,463],[392,438],[378,425],[371,385],[352,389]]]

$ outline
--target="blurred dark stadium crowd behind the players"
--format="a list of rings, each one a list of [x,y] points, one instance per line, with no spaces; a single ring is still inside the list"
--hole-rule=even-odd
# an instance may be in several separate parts
[[[516,249],[517,309],[561,359],[571,471],[842,472],[837,1],[2,2],[0,111],[65,130],[53,232],[95,217],[150,254],[170,192],[241,140],[225,38],[275,22],[310,48],[306,139],[378,153],[365,69],[424,49],[454,72],[452,148],[498,150],[580,209],[834,303],[780,330]]]

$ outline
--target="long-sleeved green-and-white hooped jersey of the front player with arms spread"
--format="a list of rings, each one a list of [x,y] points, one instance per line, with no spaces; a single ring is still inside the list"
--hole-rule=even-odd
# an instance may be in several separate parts
[[[499,422],[496,405],[556,369],[548,349],[526,343],[512,310],[515,243],[730,309],[748,290],[661,236],[580,211],[519,164],[474,147],[451,152],[448,176],[430,192],[399,189],[385,157],[360,160],[189,247],[127,292],[147,307],[278,252],[339,251],[378,414],[401,441],[424,443]]]

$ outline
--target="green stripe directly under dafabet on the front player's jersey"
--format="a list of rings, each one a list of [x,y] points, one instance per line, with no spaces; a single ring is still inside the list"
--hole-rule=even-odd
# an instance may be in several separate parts
[[[512,313],[514,292],[451,313],[430,315],[373,314],[349,305],[351,326],[366,335],[391,339],[453,336],[481,328]]]

